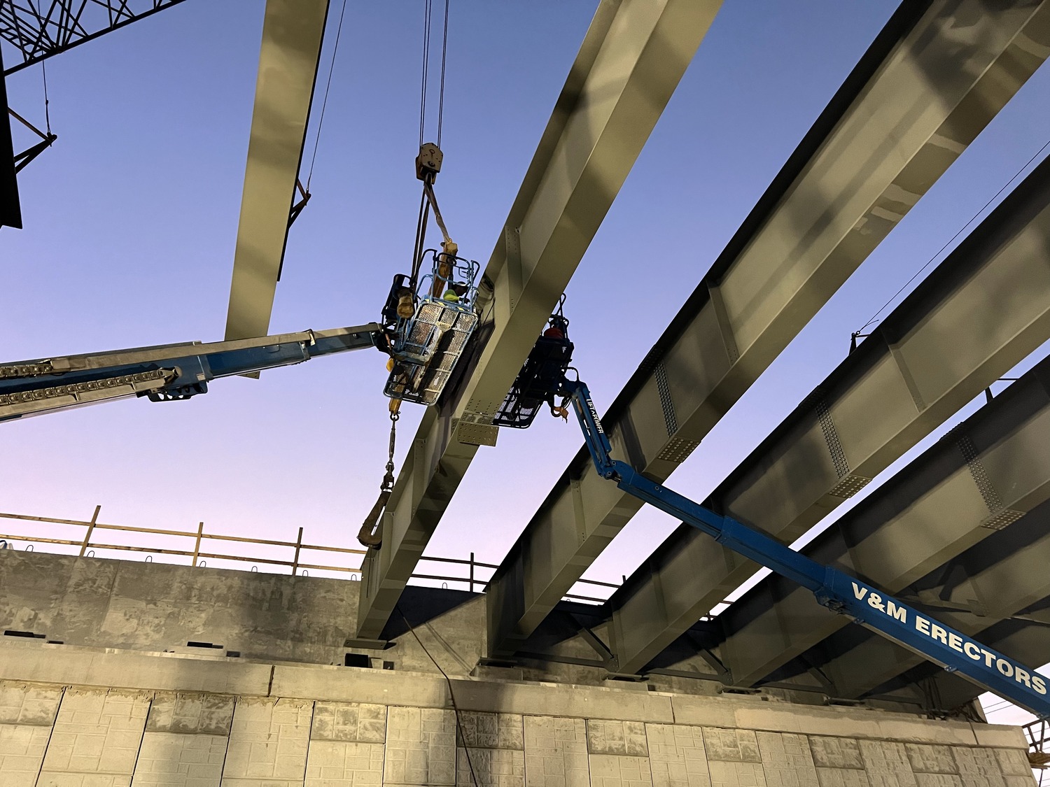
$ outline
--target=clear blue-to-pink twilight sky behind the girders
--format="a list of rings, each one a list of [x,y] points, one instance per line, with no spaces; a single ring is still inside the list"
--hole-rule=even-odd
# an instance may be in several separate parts
[[[436,191],[461,254],[483,265],[595,7],[595,0],[452,0]],[[600,411],[895,7],[886,0],[724,4],[567,290],[575,365]],[[340,8],[334,0],[301,172],[309,174],[316,140],[313,197],[289,236],[271,333],[376,319],[391,277],[411,256],[423,2],[348,0],[318,136]],[[48,61],[59,140],[20,176],[25,229],[0,232],[0,362],[222,339],[262,9],[262,0],[188,0]],[[43,127],[41,67],[14,75],[7,89],[10,106]],[[670,486],[696,499],[714,489],[842,361],[850,332],[1041,149],[1047,128],[1044,67]],[[16,149],[32,142],[16,132]],[[362,350],[257,381],[219,380],[186,402],[130,400],[5,423],[0,511],[87,519],[101,505],[100,520],[110,524],[195,530],[204,522],[210,532],[277,540],[294,540],[302,527],[308,543],[356,547],[385,462],[384,361]],[[398,466],[422,414],[403,411]],[[426,554],[472,552],[498,563],[580,445],[574,425],[552,419],[502,430],[496,448],[479,452]],[[586,576],[620,581],[675,525],[644,510]],[[5,519],[0,530],[82,533]],[[121,535],[107,538],[142,544]],[[250,554],[288,559],[287,551]]]

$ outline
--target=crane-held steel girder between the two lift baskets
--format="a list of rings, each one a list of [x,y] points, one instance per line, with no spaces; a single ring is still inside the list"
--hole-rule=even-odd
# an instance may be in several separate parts
[[[464,427],[495,429],[497,407],[720,4],[598,6],[483,275],[487,341],[450,401],[424,416],[382,518],[383,546],[365,558],[359,637],[380,635],[477,452]]]

